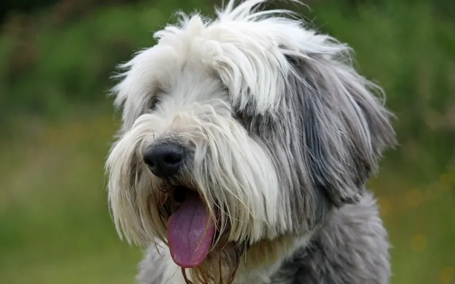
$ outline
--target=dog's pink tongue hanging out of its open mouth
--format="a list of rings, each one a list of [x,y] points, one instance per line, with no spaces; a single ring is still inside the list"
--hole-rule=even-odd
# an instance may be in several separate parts
[[[206,259],[215,234],[215,224],[208,218],[202,200],[194,194],[187,194],[168,221],[168,243],[175,264],[191,268]]]

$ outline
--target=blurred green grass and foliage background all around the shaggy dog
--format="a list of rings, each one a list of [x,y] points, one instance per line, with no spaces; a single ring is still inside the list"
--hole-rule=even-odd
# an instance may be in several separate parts
[[[455,283],[455,1],[309,0],[302,13],[357,52],[388,96],[400,146],[370,181],[393,284]],[[104,159],[119,125],[108,80],[177,9],[215,0],[3,0],[0,283],[133,284]]]

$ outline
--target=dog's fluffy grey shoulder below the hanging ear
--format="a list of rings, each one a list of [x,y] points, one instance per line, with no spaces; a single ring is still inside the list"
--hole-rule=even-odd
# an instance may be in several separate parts
[[[389,245],[370,193],[335,211],[306,247],[286,260],[274,284],[387,284]]]

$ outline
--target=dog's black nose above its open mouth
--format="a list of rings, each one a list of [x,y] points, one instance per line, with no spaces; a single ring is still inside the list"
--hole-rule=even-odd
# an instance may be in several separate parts
[[[151,145],[145,150],[144,163],[158,177],[170,177],[182,166],[185,150],[175,143]]]

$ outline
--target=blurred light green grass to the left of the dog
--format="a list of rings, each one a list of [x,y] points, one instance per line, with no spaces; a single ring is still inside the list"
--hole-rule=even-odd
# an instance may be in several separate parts
[[[140,251],[120,242],[106,205],[113,126],[88,116],[2,145],[0,283],[133,283]]]

